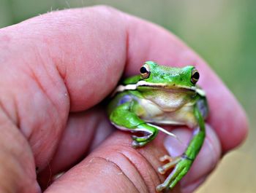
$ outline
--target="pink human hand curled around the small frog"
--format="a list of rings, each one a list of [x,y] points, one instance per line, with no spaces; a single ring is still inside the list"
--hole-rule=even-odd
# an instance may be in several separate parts
[[[145,20],[110,7],[67,9],[1,28],[0,42],[0,192],[41,192],[37,179],[48,193],[155,192],[166,177],[158,159],[178,151],[175,141],[159,135],[133,149],[97,105],[145,60],[196,66],[207,93],[206,140],[176,192],[192,192],[246,136],[243,109],[206,62]]]

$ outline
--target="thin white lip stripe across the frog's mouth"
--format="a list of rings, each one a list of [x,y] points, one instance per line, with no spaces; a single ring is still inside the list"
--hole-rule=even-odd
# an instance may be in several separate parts
[[[146,81],[139,81],[136,84],[127,84],[127,85],[119,85],[113,94],[116,92],[123,92],[125,90],[137,90],[138,87],[152,87],[152,88],[159,88],[159,89],[167,89],[167,90],[184,90],[184,91],[194,91],[198,92],[200,95],[205,95],[203,90],[198,87],[186,87],[186,86],[170,86],[163,83],[151,83]]]

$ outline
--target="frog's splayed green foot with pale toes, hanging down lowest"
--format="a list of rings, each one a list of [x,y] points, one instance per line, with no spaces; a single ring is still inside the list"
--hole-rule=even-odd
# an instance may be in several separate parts
[[[162,190],[167,188],[173,189],[178,181],[180,181],[181,178],[183,178],[187,174],[193,162],[192,159],[189,159],[185,156],[172,158],[168,155],[165,155],[160,158],[160,161],[164,162],[166,160],[169,160],[169,162],[158,168],[159,173],[165,174],[167,170],[170,170],[171,168],[173,168],[173,171],[165,179],[164,183],[157,186],[157,192],[161,192]]]

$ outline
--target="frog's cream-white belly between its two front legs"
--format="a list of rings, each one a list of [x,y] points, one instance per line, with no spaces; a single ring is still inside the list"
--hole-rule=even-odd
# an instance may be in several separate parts
[[[186,103],[176,111],[165,111],[165,109],[147,99],[139,99],[138,102],[144,109],[143,114],[138,116],[146,122],[161,125],[187,125],[188,127],[197,125],[192,103]]]

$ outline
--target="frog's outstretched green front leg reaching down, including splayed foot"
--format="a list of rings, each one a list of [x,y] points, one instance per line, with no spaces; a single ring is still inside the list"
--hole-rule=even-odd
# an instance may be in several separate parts
[[[159,167],[159,173],[164,174],[167,170],[170,170],[170,168],[173,168],[173,171],[165,179],[163,184],[159,184],[159,186],[157,186],[157,192],[161,192],[163,189],[167,188],[173,189],[178,181],[187,174],[195,160],[195,157],[197,157],[197,154],[203,145],[206,131],[203,117],[197,107],[195,107],[195,117],[197,118],[198,127],[195,129],[193,137],[184,154],[175,158],[165,155],[160,159],[160,161],[169,160],[169,162],[162,167]]]

